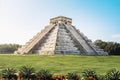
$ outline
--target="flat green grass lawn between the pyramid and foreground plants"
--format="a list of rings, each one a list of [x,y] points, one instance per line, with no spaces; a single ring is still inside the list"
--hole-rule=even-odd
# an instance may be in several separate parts
[[[94,69],[99,74],[116,68],[120,70],[120,56],[77,56],[77,55],[0,55],[0,72],[2,69],[30,65],[36,70],[47,69],[54,74],[77,72]]]

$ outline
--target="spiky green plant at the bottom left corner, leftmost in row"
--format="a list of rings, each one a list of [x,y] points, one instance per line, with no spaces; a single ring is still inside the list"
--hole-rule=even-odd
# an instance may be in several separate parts
[[[5,80],[17,80],[17,76],[15,75],[16,70],[13,68],[7,68],[2,70],[2,78]]]

